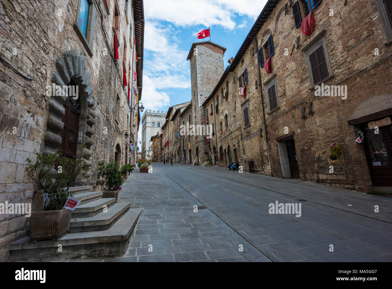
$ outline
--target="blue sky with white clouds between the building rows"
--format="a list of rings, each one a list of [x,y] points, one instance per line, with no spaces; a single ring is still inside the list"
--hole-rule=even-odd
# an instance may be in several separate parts
[[[227,48],[225,68],[234,57],[267,0],[144,0],[142,102],[145,109],[167,111],[191,100],[187,55],[196,34],[211,26],[211,41]],[[140,126],[139,138],[141,141]],[[139,146],[141,149],[141,146]]]

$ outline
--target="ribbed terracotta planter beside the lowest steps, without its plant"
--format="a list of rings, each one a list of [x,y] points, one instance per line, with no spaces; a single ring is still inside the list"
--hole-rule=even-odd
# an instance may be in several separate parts
[[[67,234],[71,214],[68,209],[32,212],[29,220],[31,241],[57,240]]]

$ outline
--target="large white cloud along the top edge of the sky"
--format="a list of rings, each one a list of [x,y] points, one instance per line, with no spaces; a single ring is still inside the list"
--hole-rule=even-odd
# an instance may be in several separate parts
[[[164,20],[176,26],[218,25],[236,27],[235,18],[257,18],[267,0],[145,0],[148,20]],[[241,16],[242,15],[242,16]]]

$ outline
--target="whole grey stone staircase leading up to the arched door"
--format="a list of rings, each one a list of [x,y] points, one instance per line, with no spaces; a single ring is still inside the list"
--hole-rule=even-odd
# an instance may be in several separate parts
[[[70,188],[73,198],[81,203],[72,213],[65,236],[32,243],[27,232],[27,236],[10,244],[9,260],[53,261],[125,254],[143,209],[130,208],[130,203],[120,203],[120,199],[117,203],[115,198],[103,199],[102,192],[92,192],[92,188]]]

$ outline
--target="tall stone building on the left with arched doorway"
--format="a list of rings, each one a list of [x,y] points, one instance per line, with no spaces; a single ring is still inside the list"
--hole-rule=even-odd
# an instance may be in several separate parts
[[[76,185],[94,191],[98,161],[136,158],[143,21],[142,0],[0,2],[0,203],[32,202],[23,163],[37,152],[71,157],[84,144],[90,170]],[[0,215],[1,261],[28,220]]]

